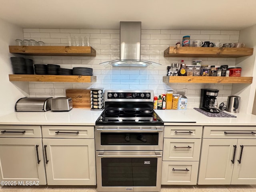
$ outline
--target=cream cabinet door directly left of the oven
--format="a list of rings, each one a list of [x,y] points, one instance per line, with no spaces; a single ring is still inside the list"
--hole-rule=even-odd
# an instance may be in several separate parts
[[[96,185],[94,139],[43,139],[43,145],[48,185]]]

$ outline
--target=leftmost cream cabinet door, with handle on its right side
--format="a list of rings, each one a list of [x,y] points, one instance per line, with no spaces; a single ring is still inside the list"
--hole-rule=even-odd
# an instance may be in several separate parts
[[[16,181],[17,185],[32,181],[45,185],[42,139],[0,138],[0,167],[1,181]]]

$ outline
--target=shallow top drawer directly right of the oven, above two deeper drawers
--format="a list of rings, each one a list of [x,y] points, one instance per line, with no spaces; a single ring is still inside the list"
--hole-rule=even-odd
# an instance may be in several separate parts
[[[164,126],[164,138],[202,138],[202,126]]]

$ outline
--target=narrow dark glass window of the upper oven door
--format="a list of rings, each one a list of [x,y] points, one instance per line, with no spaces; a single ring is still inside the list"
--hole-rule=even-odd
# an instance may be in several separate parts
[[[158,132],[102,132],[100,133],[102,146],[115,145],[158,145]]]

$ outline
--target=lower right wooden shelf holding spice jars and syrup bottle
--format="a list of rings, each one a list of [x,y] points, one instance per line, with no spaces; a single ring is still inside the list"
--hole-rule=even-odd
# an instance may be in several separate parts
[[[165,83],[252,83],[252,77],[163,76]]]

